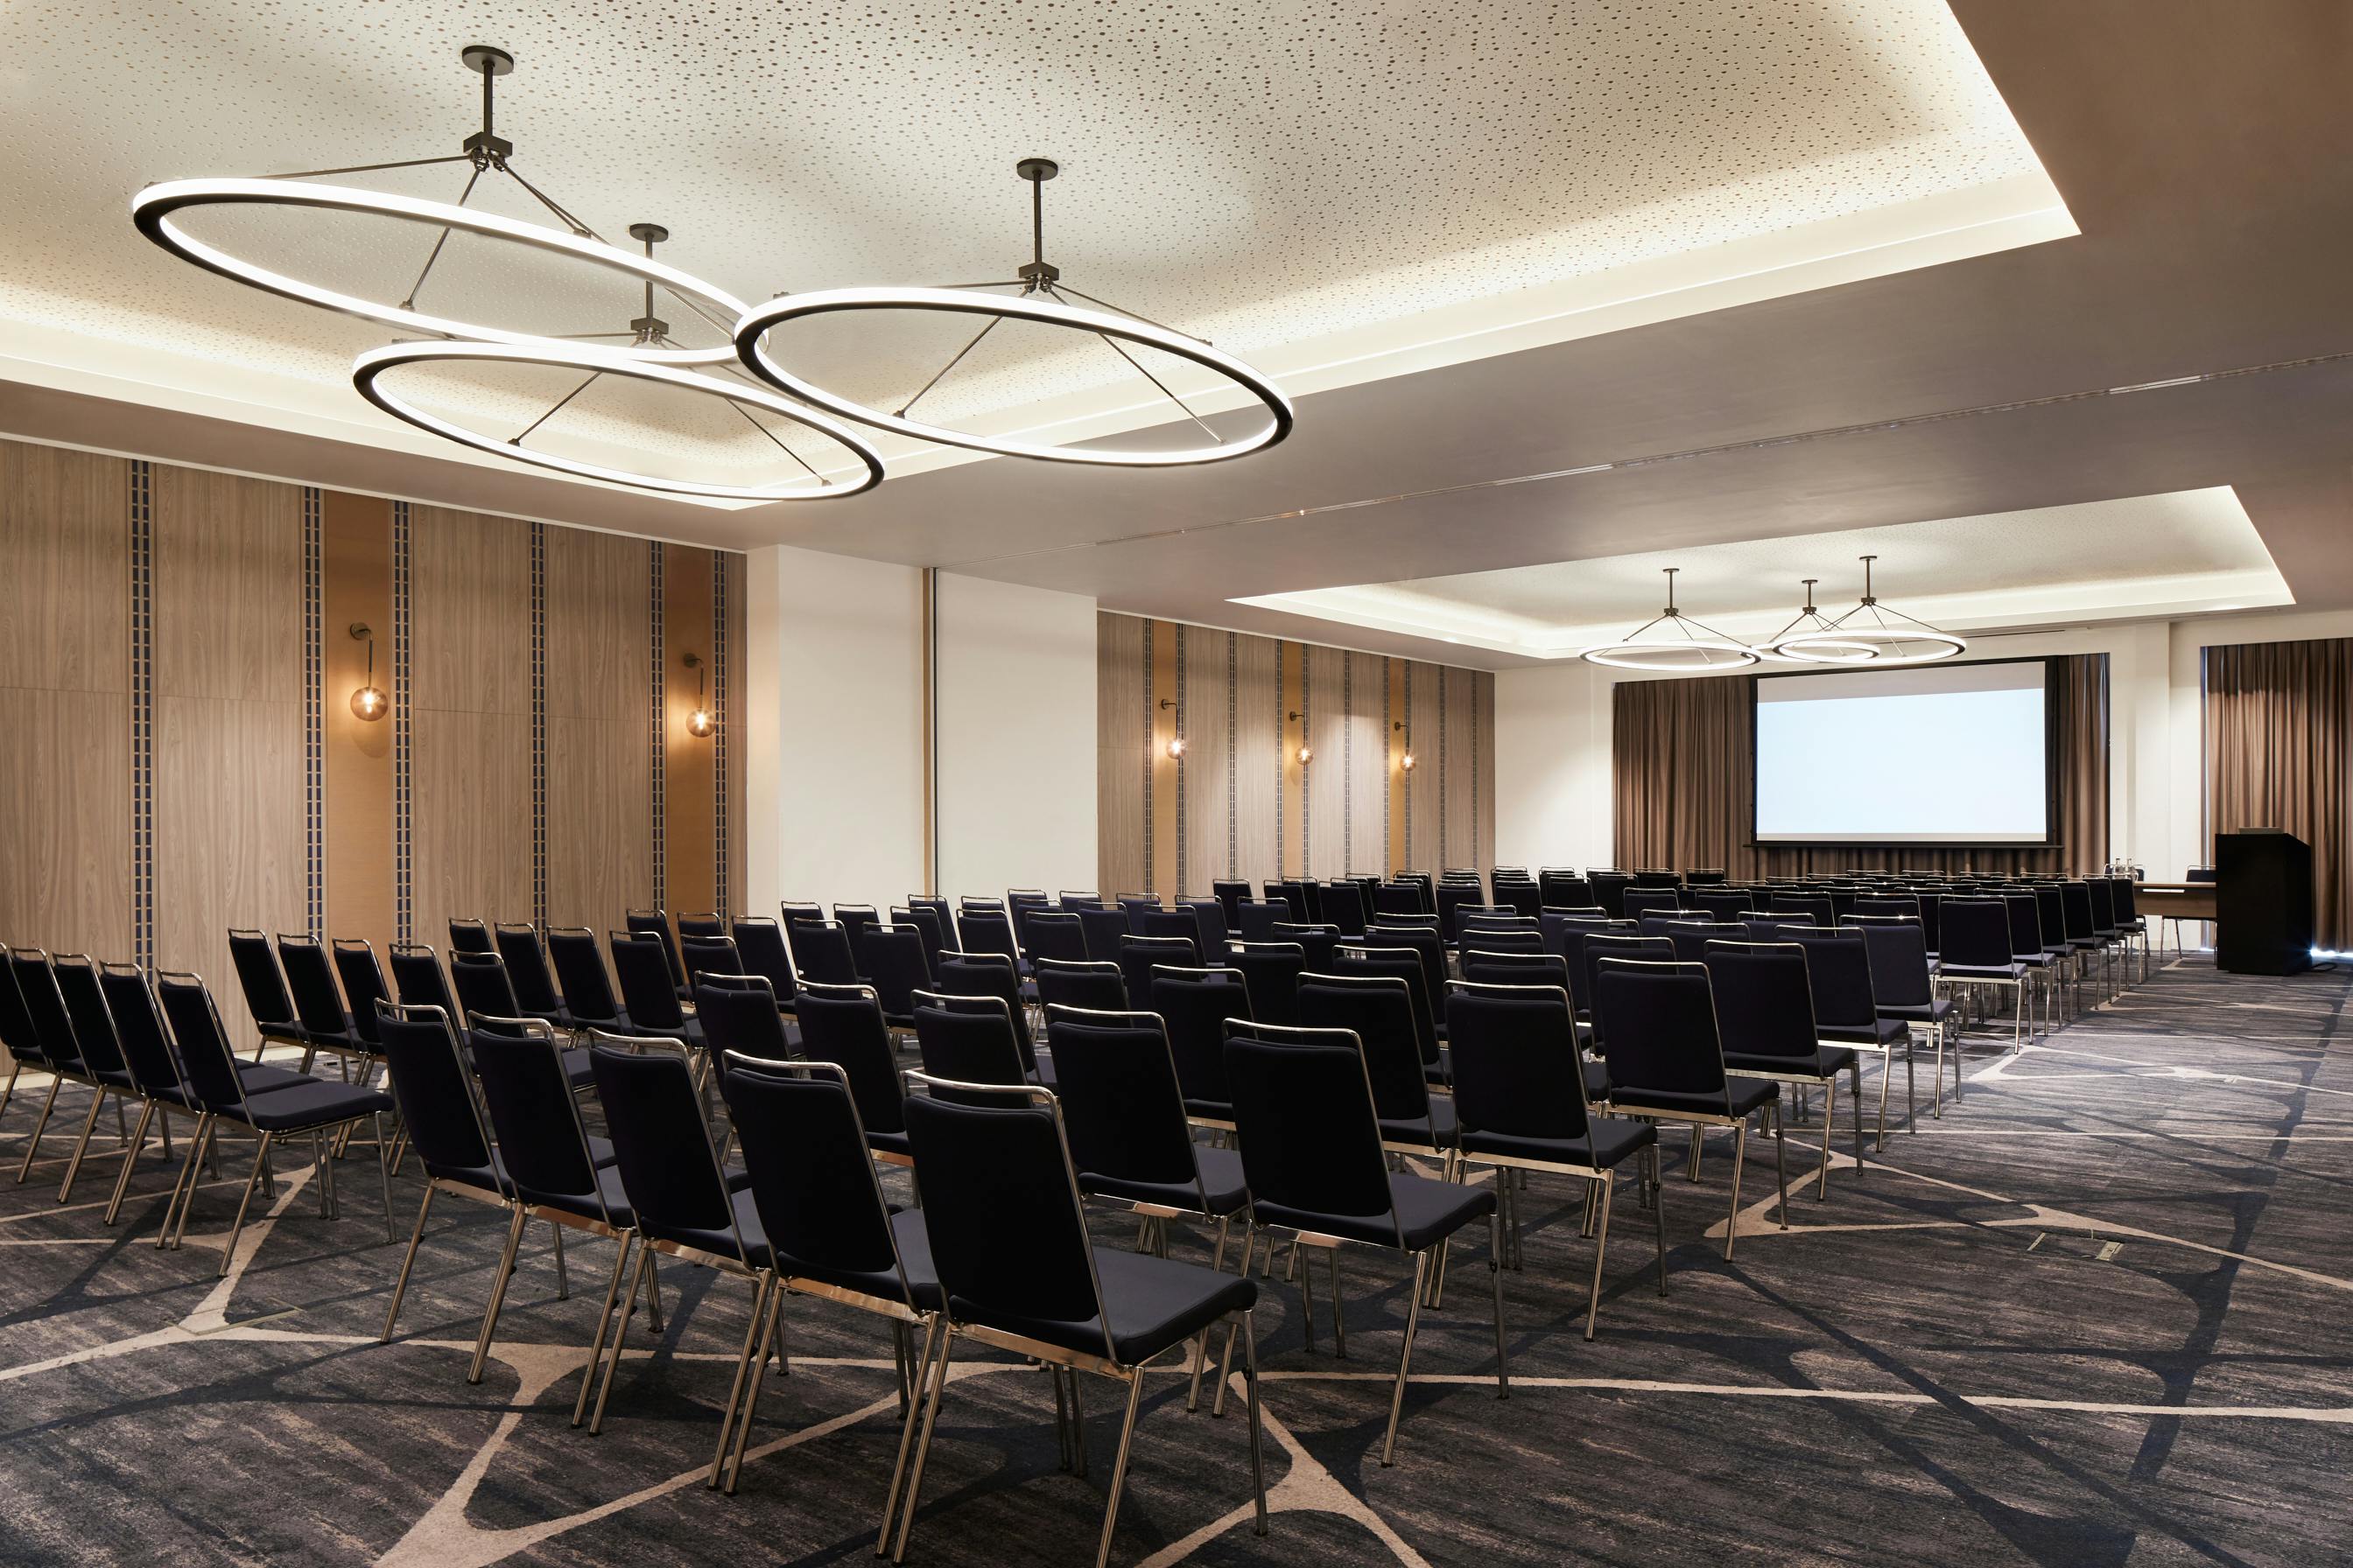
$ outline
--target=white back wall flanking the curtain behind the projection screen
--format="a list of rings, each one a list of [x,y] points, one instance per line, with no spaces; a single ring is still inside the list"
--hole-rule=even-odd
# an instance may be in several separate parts
[[[2108,846],[2155,882],[2205,849],[2200,649],[2353,637],[2353,611],[2273,611],[1981,639],[1986,658],[2108,654]],[[1609,703],[1619,679],[1553,663],[1494,677],[1494,856],[1501,865],[1612,865]]]

